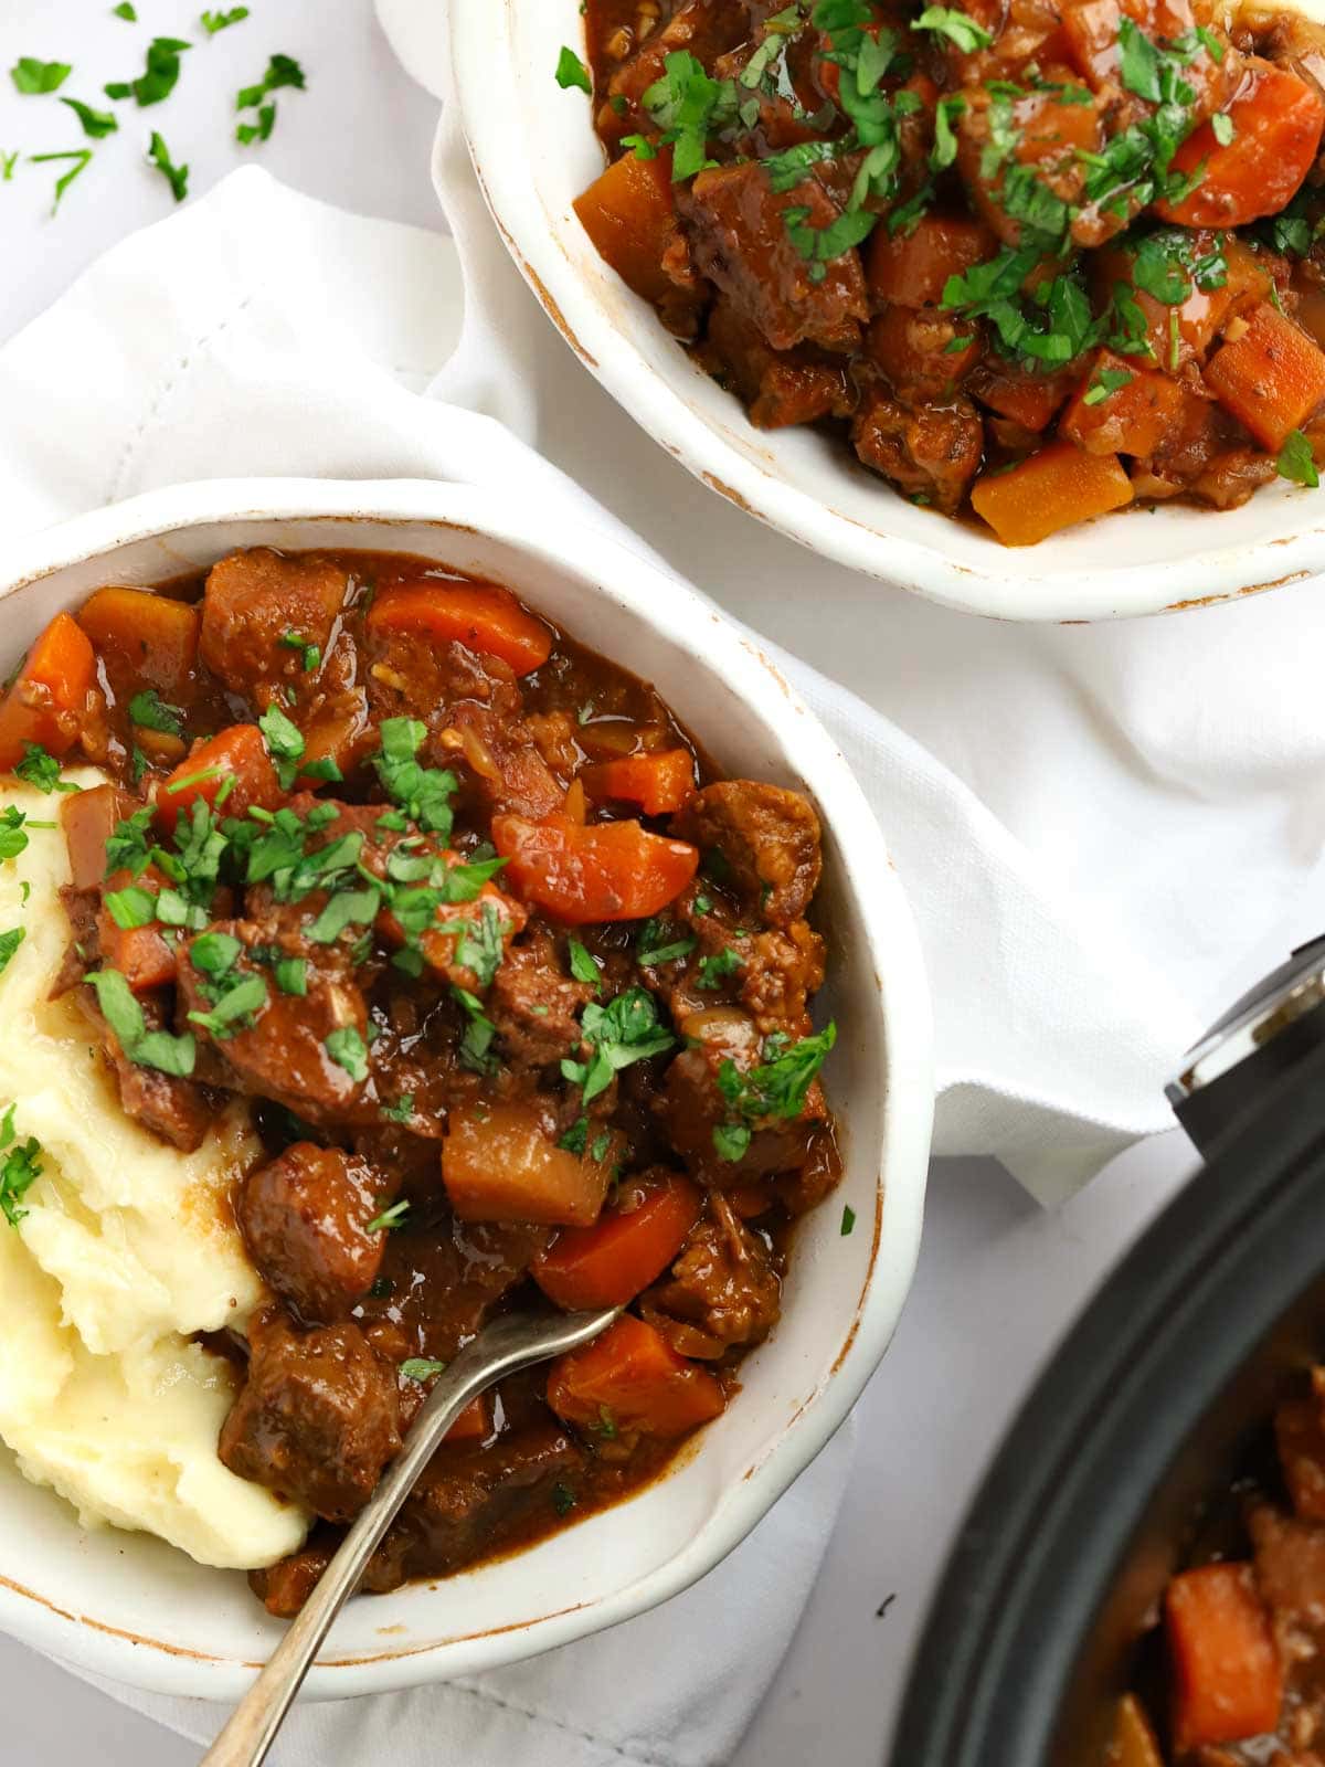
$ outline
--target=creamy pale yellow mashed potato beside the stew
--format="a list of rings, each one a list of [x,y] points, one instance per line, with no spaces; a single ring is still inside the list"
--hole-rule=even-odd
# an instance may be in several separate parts
[[[9,804],[58,820],[57,797],[5,786]],[[307,1518],[217,1460],[233,1375],[191,1341],[242,1329],[263,1297],[228,1203],[258,1143],[238,1106],[196,1154],[122,1113],[78,1005],[48,998],[67,882],[58,829],[34,829],[0,862],[0,931],[25,929],[0,975],[0,1110],[14,1103],[16,1134],[41,1141],[44,1168],[19,1226],[0,1216],[0,1437],[85,1527],[147,1528],[201,1564],[272,1564]]]

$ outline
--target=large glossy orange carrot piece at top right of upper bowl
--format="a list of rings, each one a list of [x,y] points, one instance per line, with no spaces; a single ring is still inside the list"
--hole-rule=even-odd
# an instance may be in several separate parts
[[[1325,99],[1286,67],[1246,57],[1224,117],[1233,125],[1226,145],[1219,143],[1214,122],[1207,122],[1173,155],[1175,173],[1205,166],[1205,177],[1180,203],[1155,203],[1166,221],[1246,226],[1279,214],[1311,171],[1325,127]]]

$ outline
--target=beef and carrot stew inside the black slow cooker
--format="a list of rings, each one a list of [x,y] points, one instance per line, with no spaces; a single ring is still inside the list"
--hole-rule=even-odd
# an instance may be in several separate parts
[[[1148,1657],[1148,1661],[1147,1661]],[[1117,1719],[1111,1767],[1325,1762],[1325,1368],[1200,1518]]]

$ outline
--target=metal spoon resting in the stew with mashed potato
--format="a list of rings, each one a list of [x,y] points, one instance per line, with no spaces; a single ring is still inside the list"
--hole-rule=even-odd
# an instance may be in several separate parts
[[[562,1313],[534,1318],[509,1313],[493,1320],[466,1343],[428,1394],[424,1408],[410,1426],[405,1445],[387,1467],[367,1505],[341,1541],[336,1557],[322,1573],[290,1631],[276,1647],[267,1668],[235,1707],[230,1723],[201,1760],[201,1767],[261,1767],[284,1714],[307,1675],[318,1645],[344,1601],[359,1587],[367,1560],[396,1518],[396,1511],[413,1488],[442,1437],[470,1399],[491,1387],[502,1375],[542,1362],[562,1350],[574,1350],[597,1338],[617,1318],[618,1308],[602,1313]]]

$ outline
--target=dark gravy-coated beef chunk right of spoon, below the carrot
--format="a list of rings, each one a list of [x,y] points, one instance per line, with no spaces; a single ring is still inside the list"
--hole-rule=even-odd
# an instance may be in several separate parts
[[[375,1553],[364,1589],[396,1589],[415,1566],[447,1574],[491,1553],[530,1516],[553,1511],[556,1486],[581,1465],[581,1449],[551,1422],[488,1447],[443,1445]]]

